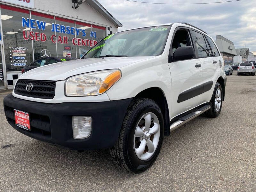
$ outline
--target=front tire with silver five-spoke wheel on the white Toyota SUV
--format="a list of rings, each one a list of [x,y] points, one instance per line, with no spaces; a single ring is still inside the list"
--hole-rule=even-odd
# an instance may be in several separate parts
[[[116,145],[109,149],[116,164],[127,171],[147,170],[160,152],[164,139],[164,118],[155,101],[132,100]]]

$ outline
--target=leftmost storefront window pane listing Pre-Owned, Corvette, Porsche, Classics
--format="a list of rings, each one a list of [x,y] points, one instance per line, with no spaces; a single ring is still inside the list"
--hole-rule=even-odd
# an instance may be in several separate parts
[[[23,38],[30,28],[22,27],[22,17],[30,18],[29,11],[1,4],[6,71],[21,71],[33,61],[32,41]]]

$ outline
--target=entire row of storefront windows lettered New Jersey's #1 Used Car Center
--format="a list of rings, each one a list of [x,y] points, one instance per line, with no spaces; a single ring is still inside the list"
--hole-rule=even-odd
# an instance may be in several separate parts
[[[21,72],[45,56],[80,58],[106,37],[105,27],[4,4],[0,7],[7,72]]]

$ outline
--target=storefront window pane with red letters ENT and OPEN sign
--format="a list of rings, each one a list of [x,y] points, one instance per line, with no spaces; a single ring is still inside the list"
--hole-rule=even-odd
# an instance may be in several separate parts
[[[92,31],[92,25],[88,23],[82,23],[79,21],[76,21],[76,28],[85,30],[84,33],[79,33],[79,35],[76,35],[76,52],[77,52],[77,58],[82,57],[86,52],[88,52],[92,47],[90,47],[90,42],[88,40],[92,40],[90,37],[90,33]],[[80,40],[81,39],[81,40]],[[87,39],[87,42],[86,42]]]

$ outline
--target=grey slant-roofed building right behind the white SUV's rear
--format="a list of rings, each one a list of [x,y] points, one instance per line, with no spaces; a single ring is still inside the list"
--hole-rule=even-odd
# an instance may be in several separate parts
[[[225,65],[233,65],[233,58],[236,55],[234,43],[221,35],[216,36],[215,42],[220,50]]]

